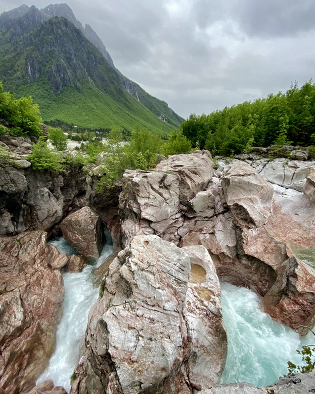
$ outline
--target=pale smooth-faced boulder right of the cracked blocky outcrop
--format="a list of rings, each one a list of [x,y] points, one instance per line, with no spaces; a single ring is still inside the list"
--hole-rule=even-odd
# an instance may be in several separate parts
[[[239,226],[260,227],[272,213],[272,186],[249,164],[234,160],[224,167],[222,188]]]

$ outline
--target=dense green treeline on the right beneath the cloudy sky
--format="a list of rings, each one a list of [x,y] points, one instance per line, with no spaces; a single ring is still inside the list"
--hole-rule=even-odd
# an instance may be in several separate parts
[[[192,146],[213,154],[240,153],[250,146],[315,144],[315,85],[245,101],[210,114],[192,113],[181,124]]]

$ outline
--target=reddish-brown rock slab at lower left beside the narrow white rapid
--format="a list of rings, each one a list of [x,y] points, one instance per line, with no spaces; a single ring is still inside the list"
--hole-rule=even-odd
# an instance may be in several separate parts
[[[64,296],[63,256],[32,231],[0,239],[0,392],[27,392],[48,363]]]

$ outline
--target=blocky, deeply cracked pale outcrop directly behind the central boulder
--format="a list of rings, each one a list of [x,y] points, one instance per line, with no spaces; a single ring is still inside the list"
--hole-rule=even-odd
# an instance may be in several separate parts
[[[156,171],[125,171],[119,197],[124,215],[122,245],[134,235],[147,234],[177,244],[188,232],[187,226],[194,226],[195,217],[206,220],[223,212],[220,182],[211,181],[212,174],[213,163],[206,151],[169,156]]]

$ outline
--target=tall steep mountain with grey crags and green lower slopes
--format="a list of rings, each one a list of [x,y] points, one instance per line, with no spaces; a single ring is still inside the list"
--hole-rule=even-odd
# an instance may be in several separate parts
[[[129,130],[140,124],[161,134],[183,120],[122,75],[65,3],[21,5],[0,15],[0,79],[16,95],[32,95],[44,120]]]

